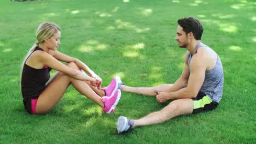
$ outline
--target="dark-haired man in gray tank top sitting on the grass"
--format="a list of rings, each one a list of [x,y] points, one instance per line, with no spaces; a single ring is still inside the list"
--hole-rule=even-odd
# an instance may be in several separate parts
[[[193,17],[178,20],[179,47],[187,49],[181,77],[173,84],[156,87],[129,87],[119,85],[123,92],[156,96],[159,103],[173,100],[164,109],[141,119],[118,118],[118,133],[143,125],[162,123],[176,116],[216,109],[223,92],[223,67],[219,56],[201,43],[203,27]]]

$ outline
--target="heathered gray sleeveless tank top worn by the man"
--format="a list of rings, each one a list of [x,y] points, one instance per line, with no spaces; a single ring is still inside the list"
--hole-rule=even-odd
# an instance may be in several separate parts
[[[200,43],[196,46],[193,54],[196,53],[198,47],[202,47],[202,46],[208,47],[209,49],[211,49],[211,47],[201,43],[200,41]],[[193,55],[190,52],[188,56],[189,73],[190,73],[190,60],[192,56]],[[219,103],[220,99],[222,98],[223,82],[224,82],[224,76],[223,76],[222,61],[220,61],[220,58],[217,55],[217,62],[214,68],[212,68],[211,70],[205,71],[205,81],[203,81],[200,91],[207,94],[212,101]]]

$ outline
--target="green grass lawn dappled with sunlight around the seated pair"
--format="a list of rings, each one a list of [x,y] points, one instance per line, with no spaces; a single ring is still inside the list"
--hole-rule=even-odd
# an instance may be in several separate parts
[[[256,143],[255,1],[53,0],[0,5],[0,143]],[[140,118],[165,105],[154,97],[123,93],[115,113],[108,115],[69,87],[46,115],[25,111],[19,69],[36,41],[39,23],[57,23],[62,28],[59,51],[85,62],[101,76],[103,86],[119,74],[127,85],[150,87],[173,83],[181,75],[185,50],[174,37],[177,20],[187,16],[201,20],[202,42],[222,59],[224,92],[216,110],[123,135],[115,131],[118,116]]]

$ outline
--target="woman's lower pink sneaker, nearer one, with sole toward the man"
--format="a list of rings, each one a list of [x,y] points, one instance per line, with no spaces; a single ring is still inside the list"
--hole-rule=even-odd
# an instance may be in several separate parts
[[[117,106],[119,99],[121,98],[121,90],[117,89],[111,97],[102,97],[102,101],[105,104],[105,108],[102,110],[106,113],[113,113],[115,106]]]

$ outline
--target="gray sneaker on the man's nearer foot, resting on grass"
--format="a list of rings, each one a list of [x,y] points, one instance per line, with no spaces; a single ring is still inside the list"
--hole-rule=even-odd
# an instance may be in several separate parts
[[[133,119],[127,119],[126,117],[123,117],[123,116],[118,117],[117,130],[119,134],[130,131],[133,129],[133,127],[134,127]]]

